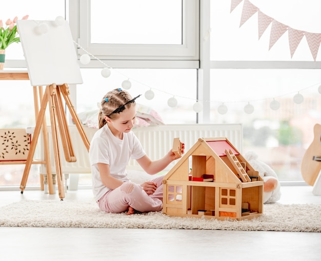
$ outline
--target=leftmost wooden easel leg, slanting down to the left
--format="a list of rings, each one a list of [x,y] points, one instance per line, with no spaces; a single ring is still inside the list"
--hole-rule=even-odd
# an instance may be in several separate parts
[[[46,90],[47,91],[47,90]],[[49,89],[48,89],[49,91]],[[46,107],[47,107],[47,102],[48,102],[48,97],[45,96],[41,102],[41,107],[39,110],[39,114],[37,116],[36,119],[36,126],[33,132],[33,137],[31,140],[31,144],[30,144],[30,149],[29,149],[29,153],[27,156],[27,160],[26,160],[26,166],[25,166],[25,170],[24,170],[24,174],[21,180],[21,184],[20,184],[20,189],[21,189],[21,193],[24,193],[24,190],[26,188],[26,184],[27,184],[27,179],[29,176],[29,172],[30,172],[30,168],[31,168],[31,164],[32,164],[32,160],[33,160],[33,156],[34,156],[34,152],[37,146],[37,141],[38,141],[38,137],[39,137],[39,133],[41,130],[41,126],[43,123],[43,119],[45,116],[45,112],[46,112]]]

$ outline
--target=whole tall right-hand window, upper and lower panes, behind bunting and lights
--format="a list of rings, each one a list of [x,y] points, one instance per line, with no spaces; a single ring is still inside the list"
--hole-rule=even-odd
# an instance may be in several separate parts
[[[321,119],[321,52],[314,62],[303,37],[291,57],[288,31],[269,50],[272,23],[258,38],[258,12],[240,26],[242,11],[250,3],[272,21],[319,32],[316,2],[291,2],[290,10],[288,1],[239,1],[230,12],[231,1],[211,1],[210,121],[242,123],[243,152],[256,152],[280,180],[302,180],[302,158]],[[294,101],[296,94],[303,95],[302,103]],[[271,109],[274,99],[277,110]],[[219,113],[222,104],[228,109],[225,114]],[[254,111],[247,113],[247,105]]]

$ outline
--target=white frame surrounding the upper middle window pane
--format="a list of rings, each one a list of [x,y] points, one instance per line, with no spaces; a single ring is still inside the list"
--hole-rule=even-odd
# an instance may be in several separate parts
[[[182,45],[117,45],[117,44],[91,44],[90,43],[90,2],[91,0],[70,0],[70,10],[79,10],[79,28],[77,43],[87,52],[105,61],[117,60],[114,63],[118,68],[198,68],[199,67],[199,0],[183,1],[183,44]],[[84,54],[78,48],[78,54]],[[130,61],[135,60],[135,63]],[[137,61],[143,61],[138,62]],[[152,61],[144,63],[144,61]],[[182,63],[184,61],[184,63]],[[122,63],[123,62],[123,63]],[[166,62],[166,64],[164,63]],[[172,62],[172,63],[170,63]],[[184,65],[183,65],[184,64]],[[95,67],[95,63],[91,65]]]

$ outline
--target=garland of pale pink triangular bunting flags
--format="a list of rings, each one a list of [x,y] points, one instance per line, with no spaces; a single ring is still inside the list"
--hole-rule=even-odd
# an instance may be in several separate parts
[[[231,0],[231,12],[242,2],[243,0]],[[268,26],[272,23],[271,32],[270,32],[270,44],[269,50],[273,47],[273,45],[277,42],[277,40],[288,31],[289,37],[289,48],[291,58],[293,57],[296,48],[299,43],[306,36],[306,41],[309,45],[310,52],[316,61],[316,56],[321,43],[321,33],[312,33],[306,31],[296,30],[294,28],[289,27],[288,25],[282,24],[276,21],[274,18],[264,14],[259,10],[258,7],[253,5],[249,0],[244,0],[243,9],[242,9],[242,17],[240,19],[240,26],[242,26],[252,15],[255,13],[258,14],[257,23],[258,23],[258,39],[263,35]]]

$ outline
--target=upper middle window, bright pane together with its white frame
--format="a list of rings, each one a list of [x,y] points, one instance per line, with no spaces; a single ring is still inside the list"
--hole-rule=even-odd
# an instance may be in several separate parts
[[[79,44],[93,55],[198,59],[198,1],[95,0],[81,1],[79,8]]]

